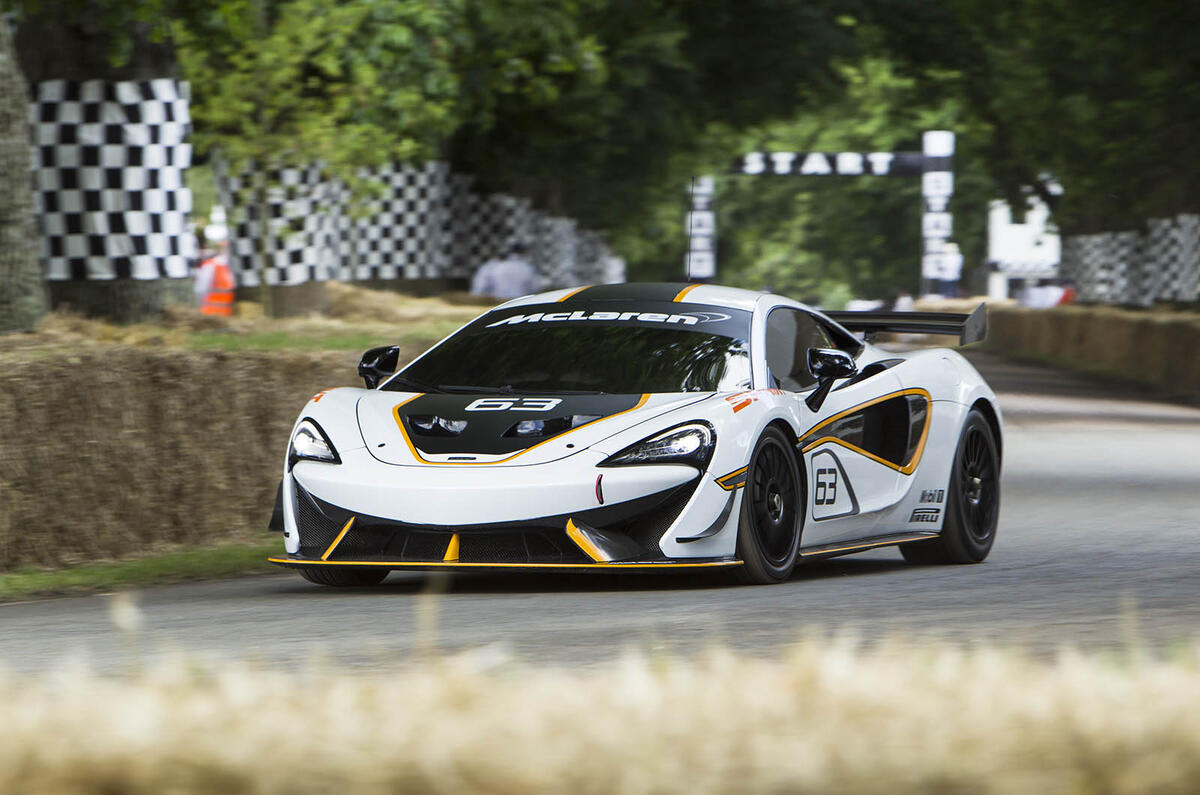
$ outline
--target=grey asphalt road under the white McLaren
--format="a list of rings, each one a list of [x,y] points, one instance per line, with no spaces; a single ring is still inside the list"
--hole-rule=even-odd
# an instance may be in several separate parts
[[[1200,408],[974,358],[1007,422],[1000,533],[980,566],[911,567],[877,550],[806,563],[772,587],[695,575],[473,575],[437,581],[444,592],[431,594],[410,574],[371,591],[294,574],[173,585],[137,594],[134,635],[114,628],[112,596],[0,605],[0,668],[83,658],[114,670],[176,651],[378,668],[431,647],[587,664],[631,645],[772,653],[814,629],[1039,653],[1200,638]]]

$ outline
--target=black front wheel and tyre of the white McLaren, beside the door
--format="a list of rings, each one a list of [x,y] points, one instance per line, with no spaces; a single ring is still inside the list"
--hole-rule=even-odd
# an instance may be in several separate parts
[[[768,428],[750,455],[738,521],[737,579],[752,585],[786,580],[796,567],[804,520],[804,485],[791,442]]]

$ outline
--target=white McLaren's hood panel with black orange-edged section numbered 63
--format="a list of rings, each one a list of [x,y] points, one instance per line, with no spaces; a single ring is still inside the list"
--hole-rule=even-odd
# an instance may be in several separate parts
[[[367,450],[384,464],[526,466],[574,455],[709,396],[371,391],[359,399],[358,420]]]

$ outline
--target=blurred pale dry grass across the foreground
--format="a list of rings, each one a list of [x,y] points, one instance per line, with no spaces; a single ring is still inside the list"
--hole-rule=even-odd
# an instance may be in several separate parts
[[[775,660],[0,677],[0,791],[1194,793],[1172,662],[810,640]]]

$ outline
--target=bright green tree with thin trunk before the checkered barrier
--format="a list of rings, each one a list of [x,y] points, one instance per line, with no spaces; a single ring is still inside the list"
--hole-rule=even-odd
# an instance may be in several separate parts
[[[455,128],[456,13],[452,0],[229,0],[175,26],[200,149],[252,166],[262,262],[269,174],[322,162],[361,187],[361,167],[428,157]]]

